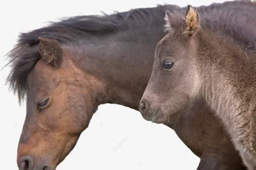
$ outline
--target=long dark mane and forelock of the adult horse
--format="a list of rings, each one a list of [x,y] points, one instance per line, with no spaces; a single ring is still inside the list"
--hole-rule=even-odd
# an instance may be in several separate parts
[[[223,6],[223,13],[225,13],[225,3],[214,3],[210,6],[201,6],[196,8],[200,13],[207,13],[207,11],[214,12],[214,9]],[[251,8],[252,4],[248,2],[234,2],[230,1],[226,4],[234,4],[236,6],[246,6],[246,8]],[[231,7],[230,7],[231,8]],[[171,10],[176,13],[184,15],[186,8],[180,8],[176,5],[158,5],[156,8],[138,8],[135,10],[125,11],[121,13],[114,13],[112,15],[86,15],[79,17],[63,18],[60,22],[50,22],[46,27],[40,29],[35,29],[30,32],[22,33],[19,35],[17,45],[7,54],[11,64],[12,69],[6,83],[10,84],[10,89],[14,93],[18,93],[19,101],[22,101],[26,97],[28,91],[28,75],[35,66],[36,62],[40,59],[38,52],[38,37],[53,38],[57,39],[61,44],[65,43],[76,43],[76,41],[82,39],[90,39],[95,37],[100,37],[104,35],[113,34],[118,31],[125,31],[128,29],[133,29],[134,27],[145,27],[151,24],[163,25],[164,23],[164,13],[165,10]],[[215,9],[216,15],[220,9]],[[201,14],[202,15],[202,14]],[[215,17],[216,17],[215,15]],[[214,16],[213,16],[214,17]],[[229,16],[232,17],[232,16]],[[228,22],[227,16],[223,21]],[[232,19],[230,19],[232,22]],[[222,24],[215,24],[214,27],[223,27]],[[223,28],[220,28],[223,29]],[[163,28],[164,30],[164,28]],[[229,30],[224,28],[224,30]],[[241,34],[239,37],[243,37],[244,42],[248,42],[248,45],[252,42],[248,39],[250,38],[248,32],[243,32],[243,30],[235,30],[235,35]],[[230,34],[233,35],[232,33]],[[248,38],[248,39],[247,39]],[[256,42],[256,41],[255,41]],[[254,47],[254,46],[253,46]]]

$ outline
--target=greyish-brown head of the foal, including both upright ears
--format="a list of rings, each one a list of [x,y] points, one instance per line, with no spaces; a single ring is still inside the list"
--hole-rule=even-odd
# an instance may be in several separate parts
[[[168,34],[156,47],[152,75],[140,102],[143,118],[167,123],[170,113],[176,115],[190,105],[200,88],[196,64],[196,33],[199,16],[188,6],[185,20],[166,11]]]

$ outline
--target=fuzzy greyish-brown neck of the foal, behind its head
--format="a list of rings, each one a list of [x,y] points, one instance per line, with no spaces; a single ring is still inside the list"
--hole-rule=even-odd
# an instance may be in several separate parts
[[[256,134],[254,60],[252,57],[246,58],[246,54],[231,43],[221,41],[215,50],[212,48],[214,42],[208,43],[207,52],[198,52],[204,53],[200,59],[202,95],[223,120],[237,148],[247,151],[248,148],[256,149],[256,146],[252,146]],[[202,44],[205,46],[204,42]]]

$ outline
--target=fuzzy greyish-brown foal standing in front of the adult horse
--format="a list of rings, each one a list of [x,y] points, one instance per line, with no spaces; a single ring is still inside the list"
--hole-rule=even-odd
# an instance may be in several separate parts
[[[244,164],[256,169],[256,34],[246,29],[250,25],[244,31],[233,27],[232,18],[217,23],[209,15],[201,24],[200,17],[190,5],[185,19],[166,11],[168,34],[157,44],[140,111],[147,120],[168,124],[204,99],[221,118]]]

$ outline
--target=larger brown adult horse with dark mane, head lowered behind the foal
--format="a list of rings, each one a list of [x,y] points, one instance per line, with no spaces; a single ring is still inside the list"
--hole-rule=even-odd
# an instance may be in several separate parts
[[[58,166],[99,104],[138,110],[152,71],[154,49],[166,34],[163,17],[168,9],[186,11],[164,5],[104,17],[72,17],[20,35],[9,53],[12,71],[8,77],[20,101],[26,97],[27,102],[17,154],[20,170]],[[252,3],[227,2],[197,9],[216,22],[232,19],[237,29],[256,23]],[[201,158],[198,169],[244,169],[229,135],[204,100],[166,125]]]

